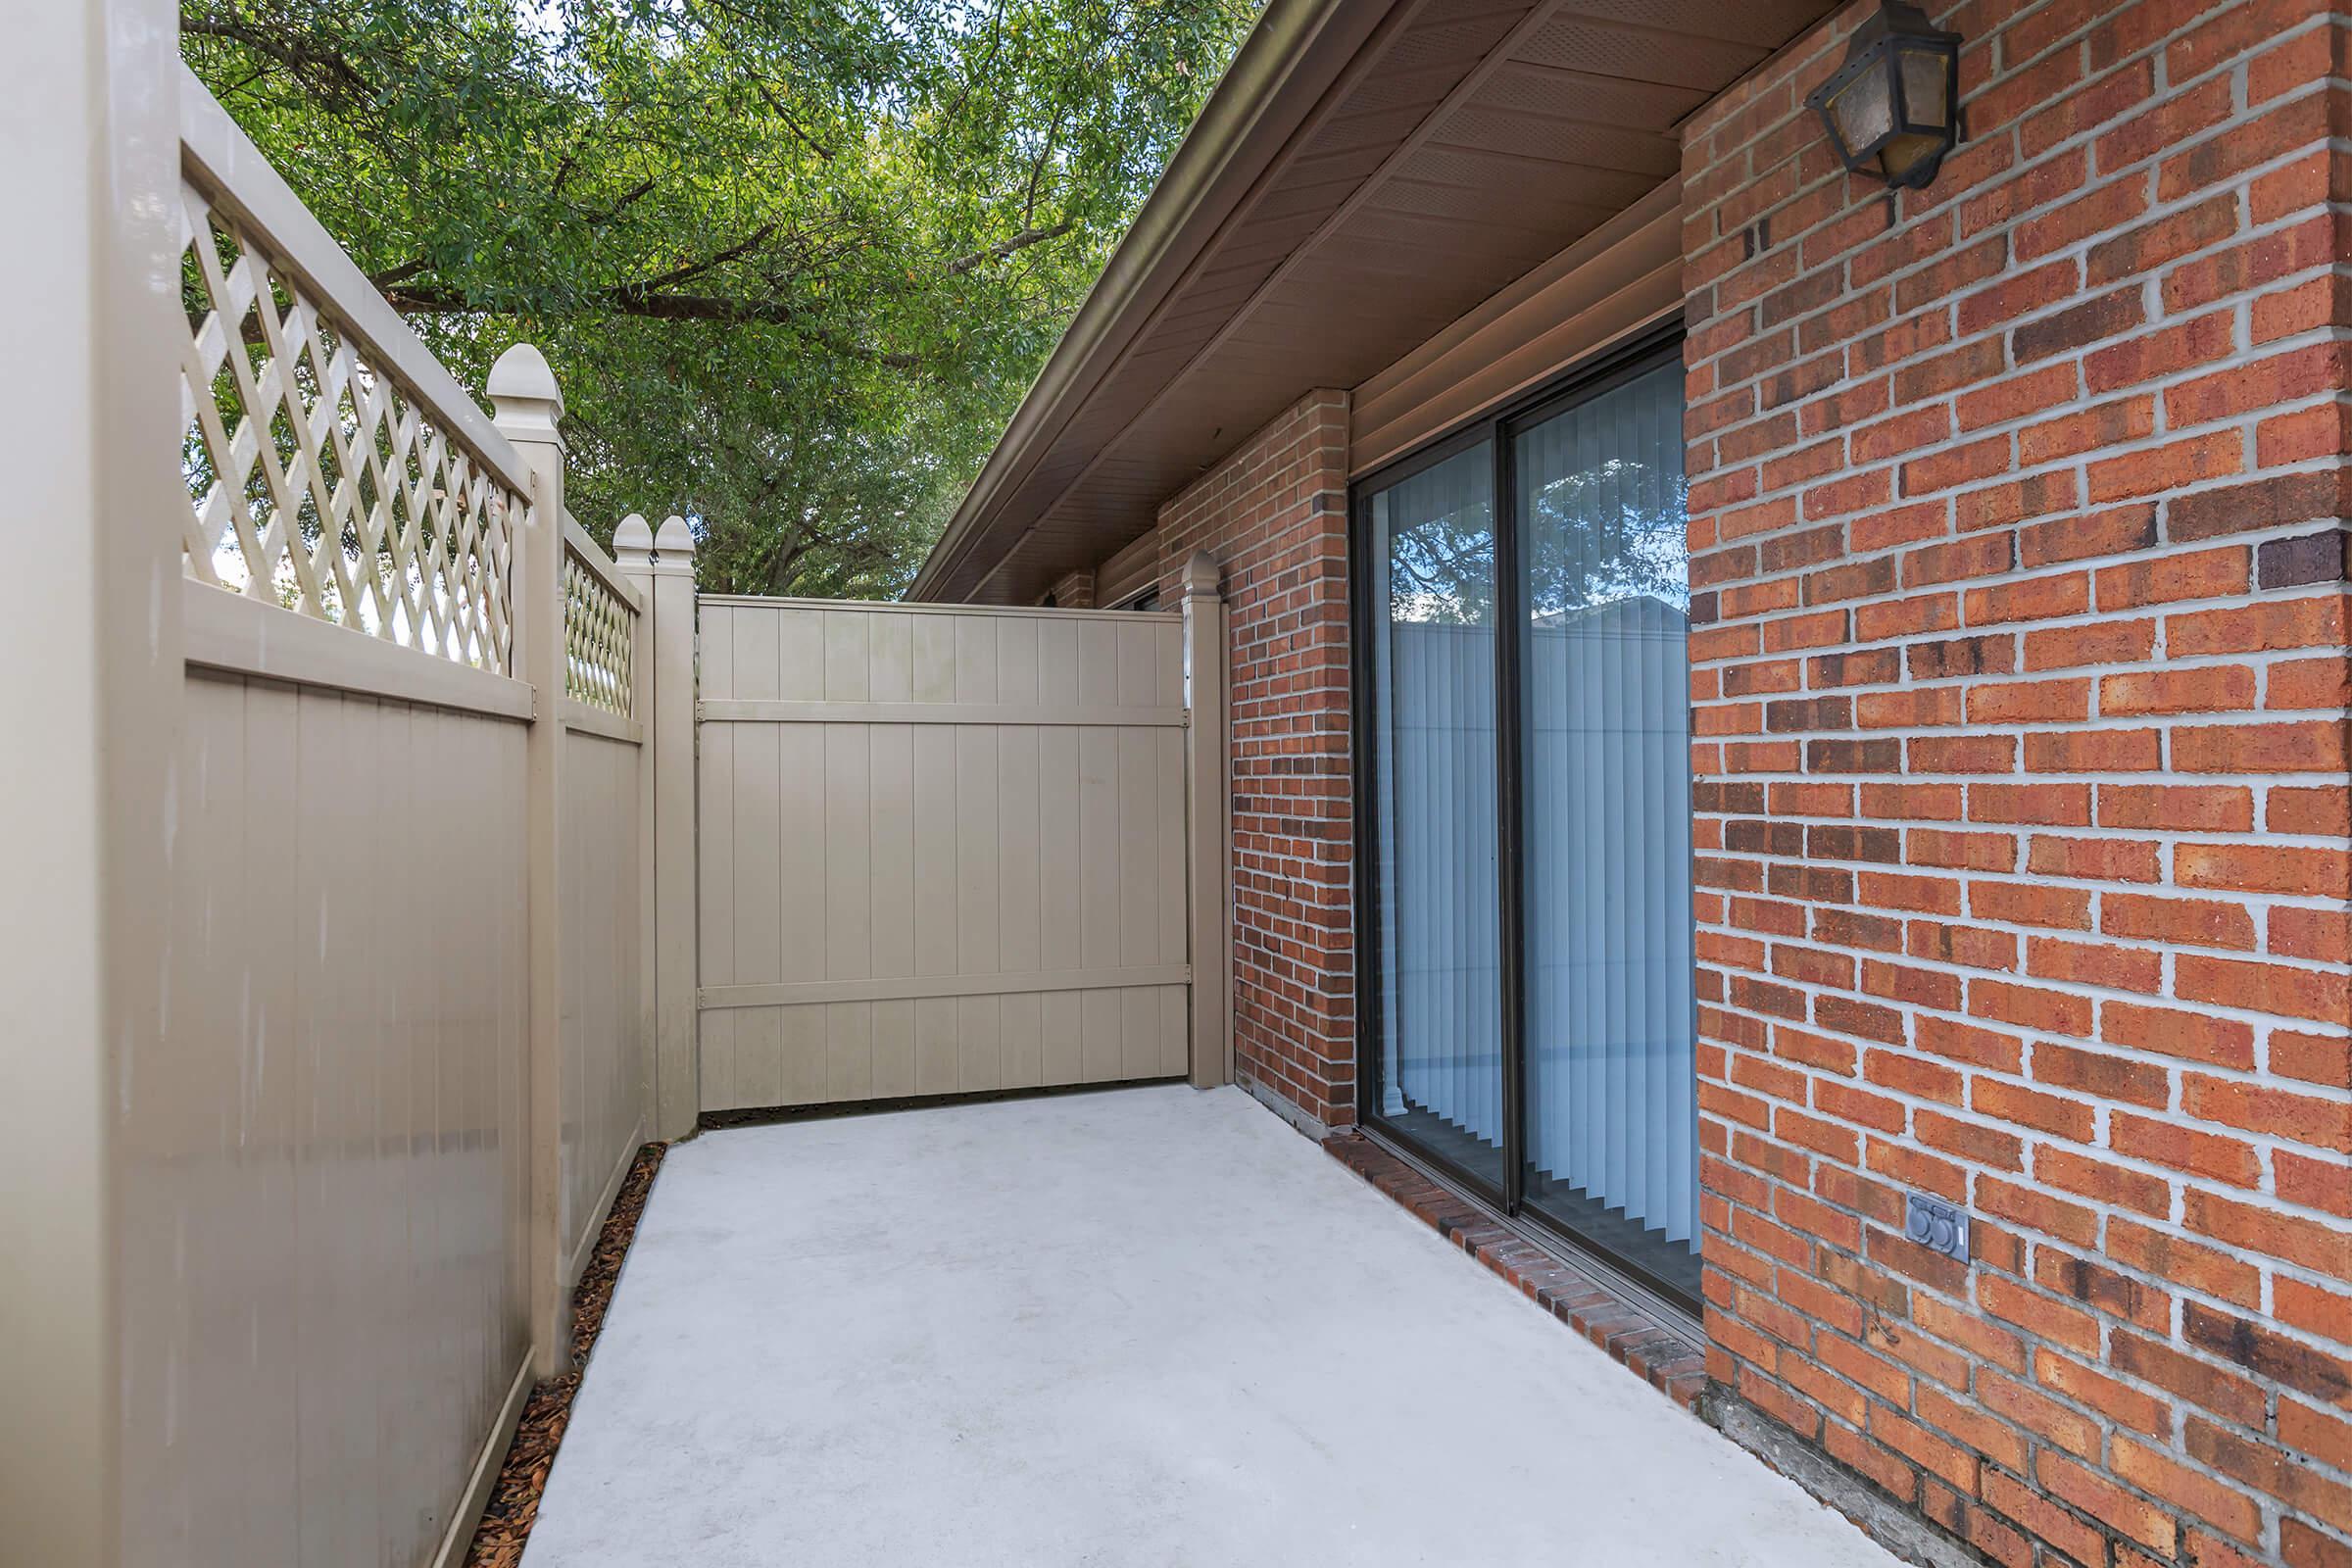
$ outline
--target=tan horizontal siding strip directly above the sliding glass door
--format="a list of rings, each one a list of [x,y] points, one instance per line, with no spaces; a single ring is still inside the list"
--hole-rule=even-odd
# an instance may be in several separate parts
[[[1665,181],[1355,388],[1362,475],[1682,310],[1682,197]]]

